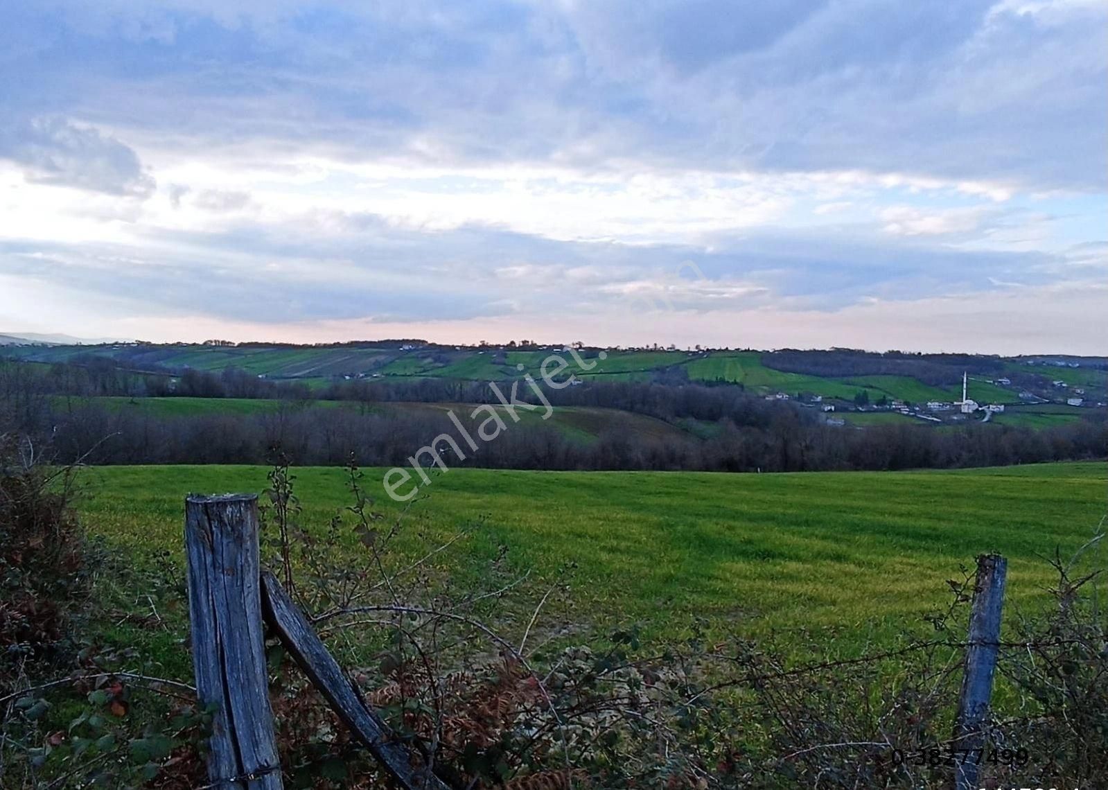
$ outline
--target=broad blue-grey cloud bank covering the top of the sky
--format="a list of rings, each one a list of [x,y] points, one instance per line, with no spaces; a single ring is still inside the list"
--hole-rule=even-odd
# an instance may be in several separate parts
[[[137,14],[116,1],[2,10],[0,30],[6,14],[42,43],[9,55],[27,79],[0,101],[105,123],[124,106],[126,123],[208,154],[264,140],[351,160],[1083,189],[1108,172],[1106,14],[1092,6],[182,1]]]

